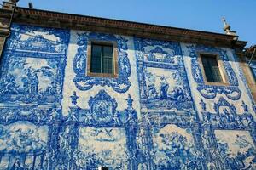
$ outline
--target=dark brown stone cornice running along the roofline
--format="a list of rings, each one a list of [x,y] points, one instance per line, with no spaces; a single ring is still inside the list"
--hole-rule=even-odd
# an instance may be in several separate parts
[[[2,13],[2,10],[0,13]],[[147,37],[166,41],[199,43],[219,47],[242,49],[247,42],[238,37],[220,33],[195,31],[183,28],[156,26],[125,20],[111,20],[79,14],[65,14],[34,8],[15,8],[14,22],[32,26],[98,31],[113,34]]]

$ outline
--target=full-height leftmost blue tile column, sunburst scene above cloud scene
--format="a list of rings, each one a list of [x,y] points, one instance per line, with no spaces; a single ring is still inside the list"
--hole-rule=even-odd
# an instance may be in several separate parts
[[[1,61],[1,168],[52,165],[69,38],[67,30],[11,26]]]

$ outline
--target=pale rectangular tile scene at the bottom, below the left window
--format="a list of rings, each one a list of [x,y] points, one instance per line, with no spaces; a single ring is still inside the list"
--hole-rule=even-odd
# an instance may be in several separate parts
[[[79,150],[82,168],[97,168],[98,165],[113,169],[128,168],[125,129],[81,128]]]

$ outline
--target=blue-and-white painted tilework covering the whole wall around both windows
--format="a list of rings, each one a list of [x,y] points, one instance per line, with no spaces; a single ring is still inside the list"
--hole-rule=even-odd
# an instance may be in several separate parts
[[[76,88],[69,96],[69,111],[64,113],[61,100],[65,94],[65,66],[74,33],[12,26],[0,72],[0,169],[256,168],[252,109],[241,101],[240,76],[232,70],[224,51],[187,47],[190,69],[201,94],[201,102],[195,104],[180,43],[134,37],[137,72],[132,73],[132,56],[128,57],[127,52],[131,40],[76,33]],[[89,39],[117,42],[118,78],[86,77]],[[199,48],[215,50],[223,57],[230,87],[203,83],[195,55]],[[138,82],[131,82],[132,74]],[[139,99],[130,95],[134,83],[138,83]],[[87,93],[94,87],[102,89],[90,96],[84,109],[78,102],[83,96],[77,92]],[[126,96],[125,103],[114,94]],[[207,111],[207,99],[217,99],[215,112]],[[140,101],[141,109],[135,108],[134,100]],[[238,113],[230,100],[240,103],[243,112]],[[125,109],[119,110],[120,105],[126,105]],[[201,107],[202,118],[195,105]]]

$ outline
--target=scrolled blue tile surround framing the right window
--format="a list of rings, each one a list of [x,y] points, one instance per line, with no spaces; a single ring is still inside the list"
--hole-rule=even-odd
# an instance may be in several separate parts
[[[189,45],[187,46],[189,50],[189,57],[191,57],[191,72],[192,76],[197,82],[197,89],[200,94],[206,99],[214,99],[217,94],[224,94],[227,98],[232,100],[238,100],[241,97],[241,90],[238,88],[238,80],[236,73],[233,71],[229,61],[229,57],[223,49],[206,47],[203,45]],[[211,86],[206,85],[201,67],[198,63],[197,53],[212,53],[218,54],[219,58],[224,62],[224,69],[227,73],[229,86]]]

